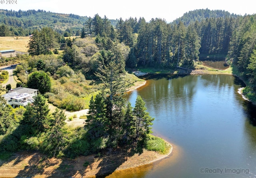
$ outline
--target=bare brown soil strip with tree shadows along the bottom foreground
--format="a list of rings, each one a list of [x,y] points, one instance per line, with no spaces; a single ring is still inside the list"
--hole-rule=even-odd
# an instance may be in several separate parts
[[[133,154],[124,149],[111,154],[106,153],[106,156],[79,156],[74,160],[46,158],[38,152],[19,152],[8,161],[0,161],[0,178],[96,177],[109,175],[115,170],[150,164],[168,156],[171,152],[172,147],[164,155],[147,150],[142,154]]]

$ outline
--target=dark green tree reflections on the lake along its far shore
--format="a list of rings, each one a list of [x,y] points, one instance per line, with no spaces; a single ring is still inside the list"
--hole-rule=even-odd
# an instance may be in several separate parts
[[[194,97],[200,97],[200,93],[209,94],[214,91],[218,99],[228,99],[228,95],[223,95],[226,90],[234,94],[234,88],[240,86],[241,81],[238,78],[227,74],[206,74],[206,75],[189,75],[189,76],[154,76],[154,79],[147,80],[147,85],[139,90],[132,92],[127,96],[128,100],[132,99],[135,103],[137,94],[141,95],[146,102],[148,111],[155,112],[156,115],[172,115],[173,113],[186,112],[190,113]],[[223,93],[223,94],[222,94]],[[135,96],[136,95],[136,96]],[[209,99],[210,100],[210,99]],[[174,116],[174,117],[178,117]],[[155,118],[157,120],[157,117]]]

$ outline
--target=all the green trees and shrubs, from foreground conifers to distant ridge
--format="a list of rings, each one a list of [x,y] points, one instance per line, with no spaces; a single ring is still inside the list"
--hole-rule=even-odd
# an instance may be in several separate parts
[[[1,104],[2,110],[16,118],[12,120],[15,123],[10,123],[4,113],[1,115],[0,150],[3,152],[15,151],[21,145],[20,148],[41,150],[52,156],[74,157],[124,144],[134,146],[135,142],[136,148],[145,147],[152,139],[148,134],[153,118],[140,97],[135,108],[124,102],[122,94],[132,84],[128,69],[193,69],[200,58],[226,58],[234,74],[247,82],[244,93],[255,97],[256,15],[237,16],[206,9],[188,12],[172,23],[160,18],[146,22],[141,17],[119,18],[115,25],[98,14],[84,20],[63,15],[57,18],[56,26],[64,17],[70,19],[68,24],[79,22],[74,27],[79,37],[64,38],[66,30],[60,31],[54,22],[52,26],[25,28],[28,22],[22,17],[33,12],[51,14],[40,10],[19,13],[3,10],[4,16],[0,16],[2,19],[9,13],[13,19],[20,18],[24,31],[31,30],[28,31],[33,34],[28,44],[30,55],[22,56],[25,60],[14,72],[21,81],[18,85],[37,88],[43,94],[26,110],[12,110]],[[11,35],[12,29],[20,28],[14,22],[1,22],[0,36]],[[32,18],[31,23],[37,22]],[[70,33],[76,34],[76,30]],[[40,83],[44,85],[38,86]],[[64,127],[60,110],[49,114],[45,98],[58,108],[74,111],[86,107],[88,93],[91,94],[87,105],[90,115],[86,117],[88,124],[84,129]],[[41,108],[42,113],[38,114],[34,106]],[[33,129],[24,129],[30,127]],[[47,140],[49,136],[56,140]]]

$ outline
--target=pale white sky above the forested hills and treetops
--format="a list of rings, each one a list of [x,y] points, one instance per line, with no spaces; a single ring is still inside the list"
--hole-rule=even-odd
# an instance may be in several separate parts
[[[7,4],[14,2],[14,4]],[[256,14],[252,0],[0,0],[4,10],[46,10],[62,14],[76,14],[123,20],[144,17],[162,18],[172,22],[184,13],[196,9],[225,10],[231,14]]]

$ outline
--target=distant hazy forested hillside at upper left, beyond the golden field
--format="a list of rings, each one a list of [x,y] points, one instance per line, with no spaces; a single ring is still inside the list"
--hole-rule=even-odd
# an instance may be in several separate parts
[[[58,14],[45,10],[0,10],[0,24],[6,28],[6,32],[0,36],[28,36],[33,30],[43,27],[50,27],[64,36],[79,36],[87,19],[87,16]],[[115,21],[111,20],[113,25]]]

